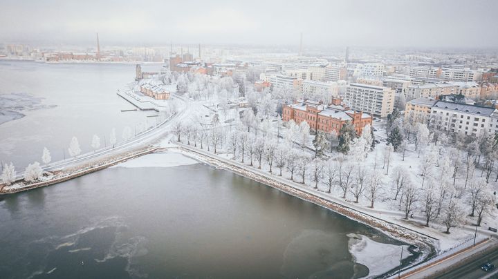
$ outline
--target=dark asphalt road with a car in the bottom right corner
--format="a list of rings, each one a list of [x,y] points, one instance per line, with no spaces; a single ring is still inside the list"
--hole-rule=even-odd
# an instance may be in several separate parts
[[[436,278],[482,278],[492,272],[486,272],[481,269],[481,265],[486,262],[492,262],[492,264],[495,264],[495,269],[498,268],[498,247],[496,245],[491,249],[486,250],[484,253],[479,253],[478,255],[472,257],[470,261],[465,261],[463,265],[456,267],[448,273]],[[497,277],[498,276],[495,276],[495,278]]]

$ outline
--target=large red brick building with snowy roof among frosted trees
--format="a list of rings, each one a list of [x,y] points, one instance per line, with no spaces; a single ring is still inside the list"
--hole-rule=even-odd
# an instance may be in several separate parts
[[[282,118],[284,121],[293,119],[296,124],[306,121],[311,130],[324,133],[330,133],[333,130],[339,133],[342,125],[351,122],[356,133],[361,135],[363,128],[367,124],[372,124],[371,115],[349,110],[340,104],[340,99],[333,99],[329,106],[311,101],[284,106]]]

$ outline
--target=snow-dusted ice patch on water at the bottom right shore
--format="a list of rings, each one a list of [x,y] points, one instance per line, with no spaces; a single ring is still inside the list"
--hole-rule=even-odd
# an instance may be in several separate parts
[[[349,233],[349,253],[358,264],[369,269],[367,278],[379,276],[400,264],[401,246],[375,242],[365,235]],[[403,246],[403,259],[412,256],[408,245]]]

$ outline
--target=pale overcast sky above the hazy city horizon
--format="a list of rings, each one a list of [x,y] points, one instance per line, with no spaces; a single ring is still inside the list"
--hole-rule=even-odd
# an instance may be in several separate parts
[[[0,0],[0,43],[497,47],[497,0]]]

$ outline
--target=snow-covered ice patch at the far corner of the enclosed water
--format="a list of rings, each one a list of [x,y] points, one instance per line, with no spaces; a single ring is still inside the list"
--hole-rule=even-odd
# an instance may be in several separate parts
[[[191,159],[185,155],[181,155],[180,153],[152,153],[147,154],[142,157],[138,157],[133,160],[129,160],[127,162],[122,162],[117,164],[114,167],[123,167],[123,168],[169,168],[172,166],[185,166],[189,164],[197,164],[196,160]]]

